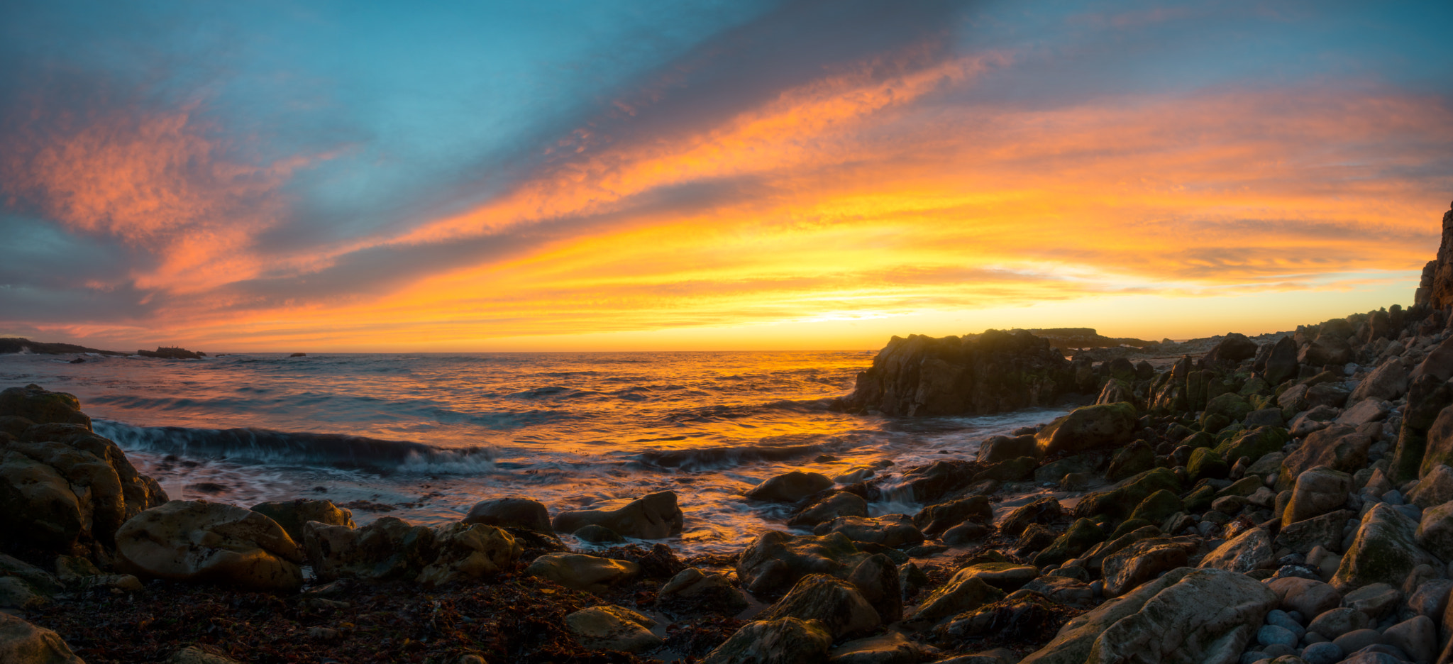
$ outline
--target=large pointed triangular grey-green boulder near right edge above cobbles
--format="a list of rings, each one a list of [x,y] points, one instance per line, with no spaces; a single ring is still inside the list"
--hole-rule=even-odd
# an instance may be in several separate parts
[[[1402,586],[1414,567],[1438,564],[1418,546],[1417,529],[1418,523],[1402,510],[1386,503],[1375,504],[1363,516],[1353,545],[1343,555],[1332,586],[1344,593],[1373,583]]]

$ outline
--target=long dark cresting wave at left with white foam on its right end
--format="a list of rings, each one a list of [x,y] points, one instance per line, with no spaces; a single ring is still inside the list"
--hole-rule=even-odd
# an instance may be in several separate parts
[[[266,429],[135,427],[108,420],[94,420],[92,426],[122,449],[193,459],[321,465],[379,474],[477,474],[494,468],[494,450],[488,448],[442,449],[411,440]]]

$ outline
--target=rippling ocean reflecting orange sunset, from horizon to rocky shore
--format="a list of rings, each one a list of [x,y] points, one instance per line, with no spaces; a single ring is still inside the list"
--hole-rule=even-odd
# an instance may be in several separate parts
[[[878,477],[1064,410],[991,417],[834,413],[873,352],[238,353],[202,360],[4,355],[0,388],[71,392],[171,498],[299,497],[442,525],[482,498],[551,514],[676,491],[683,554],[740,551],[788,507],[741,494],[793,469]],[[872,514],[920,506],[886,491]],[[897,500],[895,500],[897,497]],[[386,510],[391,507],[391,510]],[[564,535],[564,533],[562,533]],[[570,543],[583,549],[590,545]]]

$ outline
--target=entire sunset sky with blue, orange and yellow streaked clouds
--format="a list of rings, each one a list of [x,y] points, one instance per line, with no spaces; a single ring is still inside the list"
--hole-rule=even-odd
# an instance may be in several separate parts
[[[0,336],[1158,340],[1408,305],[1446,0],[12,1]]]

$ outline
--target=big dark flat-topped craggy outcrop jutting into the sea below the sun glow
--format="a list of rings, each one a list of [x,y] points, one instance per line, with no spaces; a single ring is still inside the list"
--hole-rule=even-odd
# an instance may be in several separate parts
[[[840,408],[886,416],[985,416],[1051,405],[1074,389],[1069,360],[1029,331],[894,337]]]

